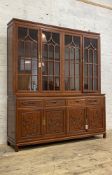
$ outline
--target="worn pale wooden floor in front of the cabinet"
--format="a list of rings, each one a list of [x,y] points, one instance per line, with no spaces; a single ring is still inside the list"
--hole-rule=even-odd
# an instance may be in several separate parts
[[[0,145],[0,175],[112,175],[112,131],[15,152]]]

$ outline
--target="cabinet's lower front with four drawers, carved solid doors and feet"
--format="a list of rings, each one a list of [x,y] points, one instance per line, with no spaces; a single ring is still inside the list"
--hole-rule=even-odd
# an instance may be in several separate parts
[[[13,145],[18,151],[23,145],[97,134],[106,137],[105,98],[104,96],[89,98],[83,97],[82,100],[76,97],[51,101],[50,98],[39,99],[40,103],[38,100],[28,102],[28,99],[27,103],[25,100],[24,103],[19,101],[22,105],[17,108],[17,116],[15,116],[15,140],[8,135],[8,144]]]

